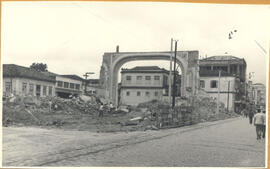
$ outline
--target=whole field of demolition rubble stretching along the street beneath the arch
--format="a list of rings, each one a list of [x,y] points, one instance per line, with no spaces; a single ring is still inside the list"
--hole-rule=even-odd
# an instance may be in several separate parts
[[[178,99],[174,109],[166,101],[153,100],[137,107],[104,105],[100,116],[99,101],[83,96],[58,97],[14,96],[3,103],[3,125],[40,126],[96,132],[158,130],[226,119],[235,114],[207,97]]]

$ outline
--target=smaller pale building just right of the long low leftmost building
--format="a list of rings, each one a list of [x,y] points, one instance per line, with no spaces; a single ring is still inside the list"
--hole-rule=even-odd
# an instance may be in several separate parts
[[[70,95],[81,95],[83,81],[84,79],[77,75],[56,75],[56,96],[68,98]]]

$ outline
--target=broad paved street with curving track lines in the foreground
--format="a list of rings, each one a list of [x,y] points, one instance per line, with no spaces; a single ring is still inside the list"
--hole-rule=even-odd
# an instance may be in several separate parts
[[[3,166],[263,167],[264,149],[242,117],[130,133],[3,128]]]

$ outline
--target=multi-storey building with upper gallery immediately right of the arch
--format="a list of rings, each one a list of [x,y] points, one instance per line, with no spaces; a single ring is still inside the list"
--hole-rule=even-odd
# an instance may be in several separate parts
[[[246,61],[235,56],[221,55],[201,59],[200,83],[205,83],[207,93],[217,98],[218,93],[218,72],[220,78],[220,101],[235,112],[240,112],[246,105]],[[205,82],[203,82],[205,81]],[[216,82],[215,82],[216,81]],[[228,82],[230,81],[230,86]],[[216,84],[216,87],[214,87]]]

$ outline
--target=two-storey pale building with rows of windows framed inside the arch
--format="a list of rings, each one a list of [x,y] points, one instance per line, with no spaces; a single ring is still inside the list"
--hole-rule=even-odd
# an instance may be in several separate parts
[[[158,66],[137,66],[132,69],[122,69],[119,103],[138,105],[151,100],[161,100],[164,96],[168,96],[168,78],[169,71]],[[178,95],[180,95],[179,84],[177,85]]]

